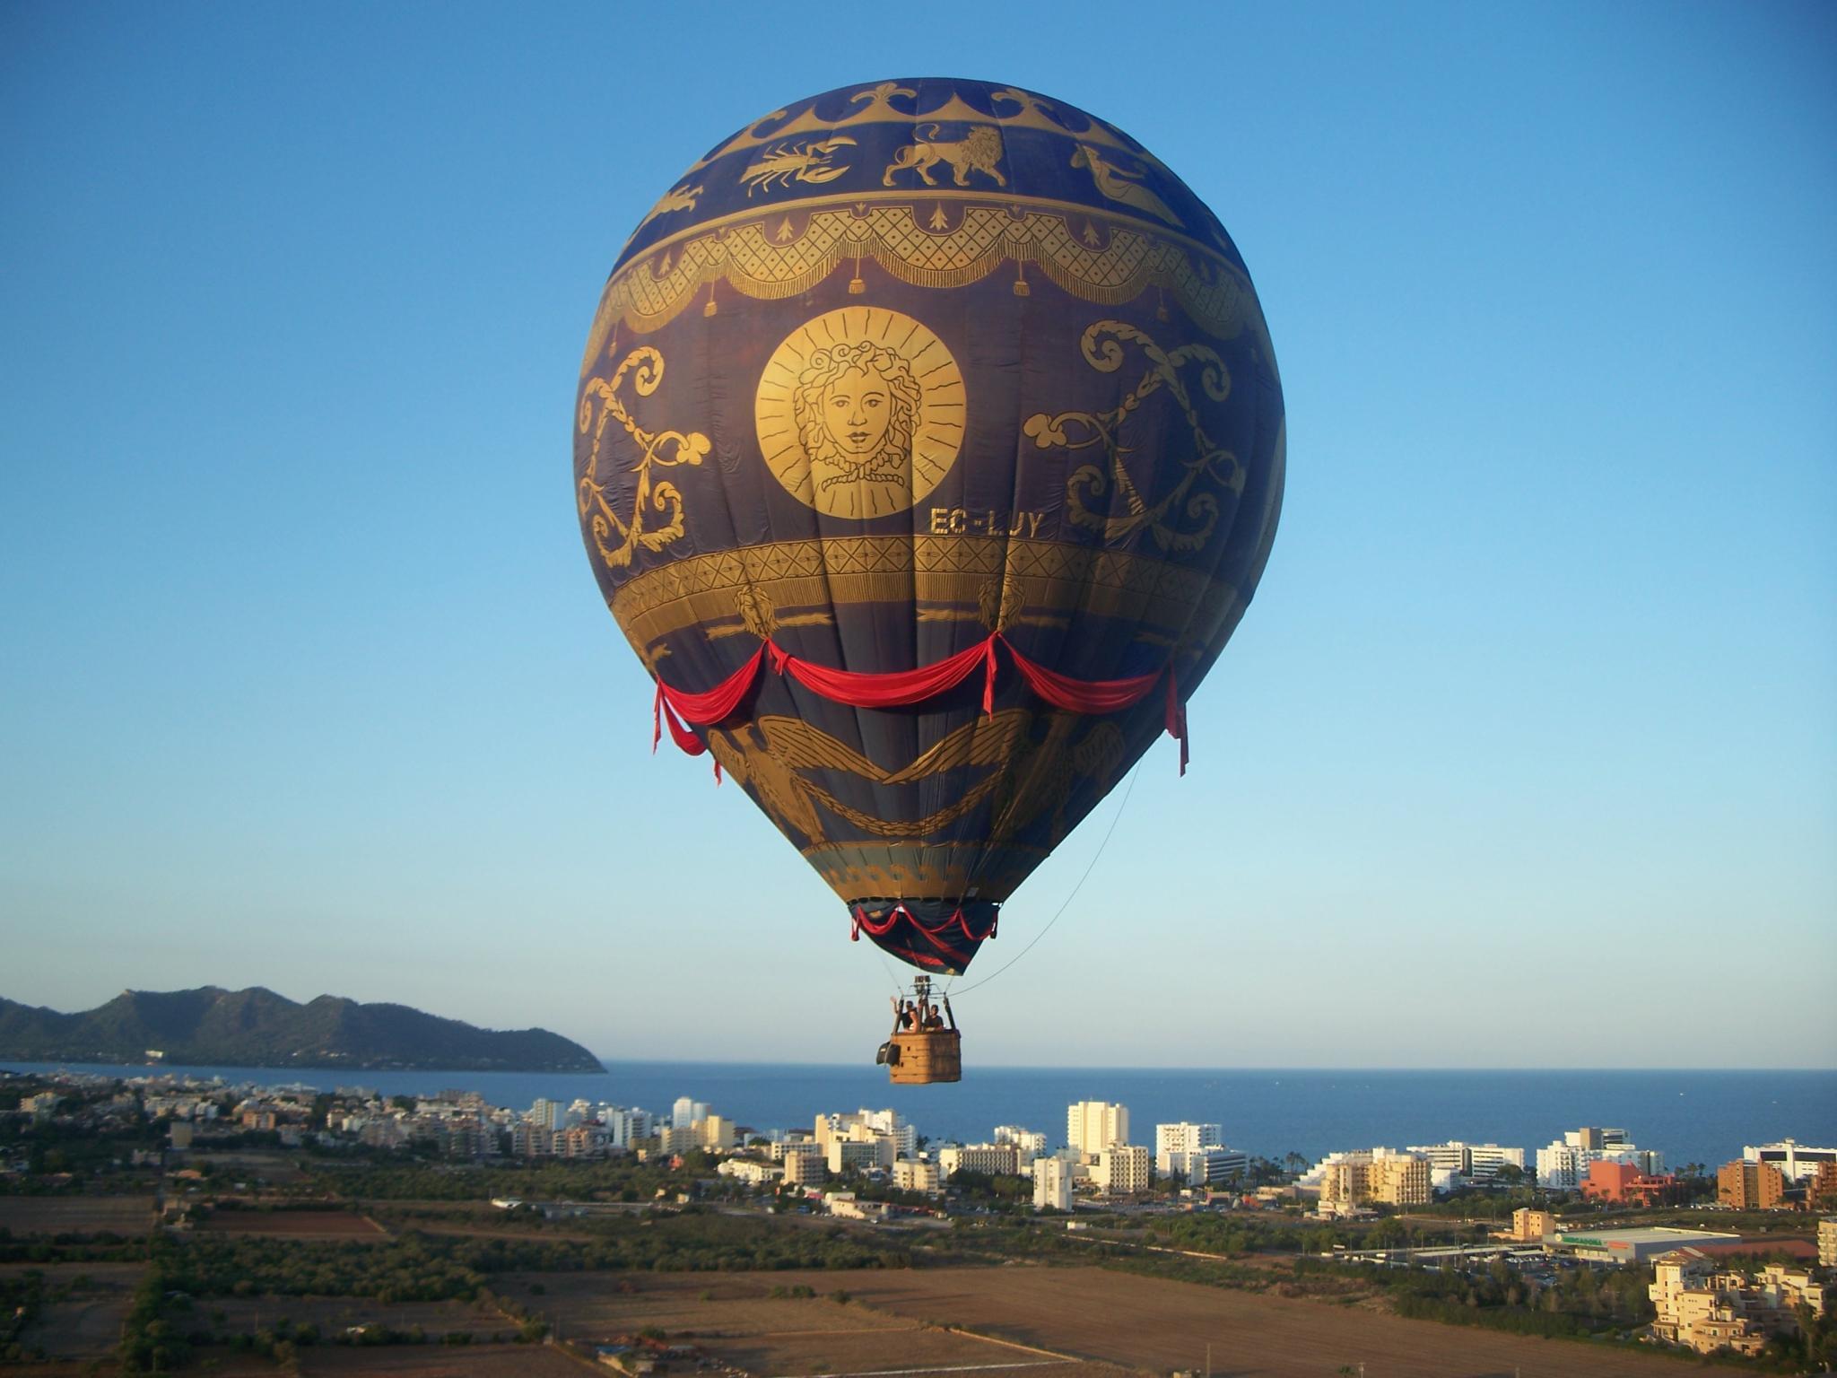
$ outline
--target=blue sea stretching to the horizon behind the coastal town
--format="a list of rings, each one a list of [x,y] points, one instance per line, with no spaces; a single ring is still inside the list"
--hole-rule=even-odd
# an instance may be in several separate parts
[[[318,1067],[147,1067],[0,1062],[13,1071],[107,1077],[189,1073],[230,1084],[362,1086],[382,1095],[478,1091],[489,1104],[527,1110],[540,1099],[612,1102],[669,1113],[678,1097],[753,1130],[810,1128],[836,1110],[893,1106],[918,1134],[981,1143],[996,1124],[1064,1141],[1065,1106],[1128,1106],[1130,1137],[1154,1145],[1154,1126],[1222,1124],[1244,1152],[1317,1161],[1343,1148],[1407,1148],[1466,1139],[1528,1154],[1582,1124],[1624,1128],[1670,1167],[1716,1167],[1745,1145],[1793,1137],[1837,1145],[1837,1071],[1321,1071],[1286,1067],[972,1067],[946,1086],[889,1086],[871,1066],[746,1062],[606,1062],[601,1073],[349,1071]]]

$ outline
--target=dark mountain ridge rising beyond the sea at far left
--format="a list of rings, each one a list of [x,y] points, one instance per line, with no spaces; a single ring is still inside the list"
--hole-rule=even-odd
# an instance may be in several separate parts
[[[0,996],[0,1058],[169,1066],[450,1071],[604,1071],[580,1044],[547,1029],[479,1029],[388,1001],[316,996],[298,1003],[266,987],[123,990],[64,1014]]]

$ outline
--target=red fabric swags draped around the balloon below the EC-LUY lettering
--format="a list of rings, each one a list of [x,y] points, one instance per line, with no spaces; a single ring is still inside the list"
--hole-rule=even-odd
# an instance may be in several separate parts
[[[665,724],[671,740],[689,755],[702,755],[707,744],[694,735],[693,728],[711,728],[731,718],[746,702],[762,665],[770,661],[779,674],[790,674],[797,683],[812,693],[823,695],[836,704],[849,707],[902,707],[922,704],[948,689],[955,689],[968,680],[977,665],[983,669],[983,711],[996,711],[996,643],[1007,647],[1014,669],[1020,671],[1027,687],[1053,707],[1067,713],[1121,713],[1133,707],[1154,689],[1163,671],[1150,674],[1132,674],[1124,680],[1075,680],[1069,674],[1051,671],[1016,650],[999,632],[964,647],[955,656],[918,665],[909,671],[836,671],[827,665],[814,665],[808,660],[792,656],[772,641],[762,641],[759,650],[733,674],[713,689],[691,695],[683,689],[671,689],[658,676],[658,695],[650,707],[650,750],[658,750]],[[1187,706],[1179,702],[1179,683],[1174,665],[1168,661],[1166,674],[1166,733],[1179,739],[1179,774],[1187,774]],[[715,779],[720,779],[720,766],[715,766]],[[968,937],[968,928],[964,928]]]

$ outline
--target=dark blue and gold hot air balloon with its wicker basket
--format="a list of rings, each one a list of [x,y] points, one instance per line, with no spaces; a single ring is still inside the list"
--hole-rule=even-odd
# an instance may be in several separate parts
[[[1064,101],[797,101],[643,217],[588,334],[575,500],[652,740],[713,753],[928,979],[1163,731],[1275,538],[1282,388],[1218,217]]]

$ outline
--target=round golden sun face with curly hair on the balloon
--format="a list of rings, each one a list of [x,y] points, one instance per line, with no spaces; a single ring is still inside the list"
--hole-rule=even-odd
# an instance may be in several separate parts
[[[753,399],[759,450],[827,516],[904,513],[963,448],[963,371],[944,342],[885,307],[841,307],[772,351]]]

